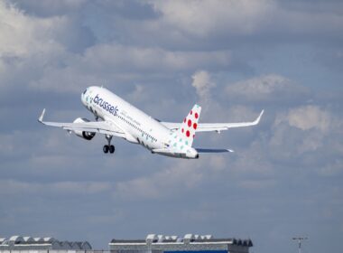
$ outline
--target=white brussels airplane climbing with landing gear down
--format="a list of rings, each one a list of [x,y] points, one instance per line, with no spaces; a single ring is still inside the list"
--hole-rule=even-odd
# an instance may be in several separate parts
[[[252,122],[241,123],[198,123],[201,107],[197,104],[190,109],[181,123],[162,122],[135,108],[110,90],[91,86],[81,94],[82,104],[95,116],[96,121],[78,117],[72,123],[44,121],[45,108],[38,121],[46,126],[61,127],[85,140],[96,134],[105,135],[107,145],[104,153],[115,153],[111,145],[113,136],[121,137],[133,144],[143,145],[151,153],[176,158],[198,159],[200,153],[233,152],[231,149],[192,147],[198,132],[218,132],[232,127],[255,126],[260,122],[264,110]]]

